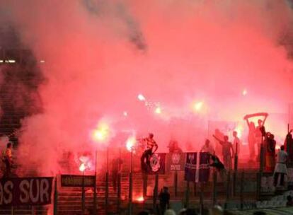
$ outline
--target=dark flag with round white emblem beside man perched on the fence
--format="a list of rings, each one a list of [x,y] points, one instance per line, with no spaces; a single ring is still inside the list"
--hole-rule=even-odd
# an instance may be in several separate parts
[[[165,174],[166,153],[153,153],[149,158],[149,166],[146,170],[148,174]]]

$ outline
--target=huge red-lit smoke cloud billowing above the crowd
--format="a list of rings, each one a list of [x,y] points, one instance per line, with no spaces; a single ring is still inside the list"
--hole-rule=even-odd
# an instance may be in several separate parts
[[[159,151],[171,137],[198,149],[208,120],[287,113],[292,101],[289,1],[4,3],[22,42],[45,60],[42,113],[26,117],[19,136],[19,156],[40,174],[57,173],[65,151],[103,148],[91,136],[102,121],[113,145],[120,132],[154,132]]]

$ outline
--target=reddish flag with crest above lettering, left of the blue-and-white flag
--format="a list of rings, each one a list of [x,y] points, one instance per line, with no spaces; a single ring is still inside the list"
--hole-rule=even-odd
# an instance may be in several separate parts
[[[168,153],[166,156],[167,171],[183,171],[185,167],[186,153]]]

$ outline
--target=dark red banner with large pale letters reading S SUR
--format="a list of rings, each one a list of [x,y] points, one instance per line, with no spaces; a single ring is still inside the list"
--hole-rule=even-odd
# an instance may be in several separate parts
[[[0,180],[0,206],[51,204],[53,178]]]

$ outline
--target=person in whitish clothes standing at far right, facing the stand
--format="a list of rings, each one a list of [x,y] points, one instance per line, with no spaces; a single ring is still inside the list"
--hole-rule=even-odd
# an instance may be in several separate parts
[[[280,186],[284,186],[285,175],[287,174],[287,158],[288,154],[284,151],[285,146],[281,146],[281,150],[277,153],[277,163],[275,165],[274,171],[274,186],[277,186],[277,180],[280,175]]]

